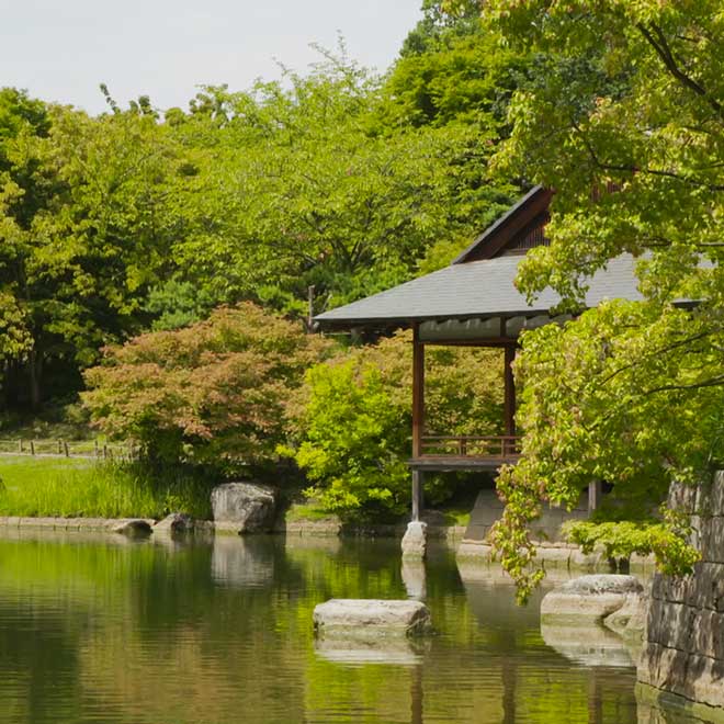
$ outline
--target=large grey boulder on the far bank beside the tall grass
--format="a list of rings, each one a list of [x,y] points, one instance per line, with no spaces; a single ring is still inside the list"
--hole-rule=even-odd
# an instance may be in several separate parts
[[[225,483],[212,490],[214,524],[235,533],[268,533],[273,530],[276,495],[258,483]]]

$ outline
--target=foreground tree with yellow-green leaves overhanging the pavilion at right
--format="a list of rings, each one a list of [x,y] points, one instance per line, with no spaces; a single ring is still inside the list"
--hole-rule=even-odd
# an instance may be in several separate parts
[[[635,497],[724,460],[724,16],[713,0],[490,0],[484,15],[551,70],[514,95],[496,159],[556,190],[521,289],[576,310],[584,276],[630,252],[645,297],[523,338],[524,456],[501,474],[495,541],[524,593],[542,500],[569,506],[595,478]]]

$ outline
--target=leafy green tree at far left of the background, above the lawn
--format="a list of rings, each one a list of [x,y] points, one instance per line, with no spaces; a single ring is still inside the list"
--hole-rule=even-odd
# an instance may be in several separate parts
[[[78,369],[100,347],[138,328],[170,241],[182,236],[169,200],[182,195],[184,167],[179,146],[140,110],[90,118],[12,91],[4,98],[14,109],[4,117],[22,123],[5,124],[12,133],[0,139],[0,285],[30,339],[9,387],[26,375],[36,409],[48,367],[77,388]]]

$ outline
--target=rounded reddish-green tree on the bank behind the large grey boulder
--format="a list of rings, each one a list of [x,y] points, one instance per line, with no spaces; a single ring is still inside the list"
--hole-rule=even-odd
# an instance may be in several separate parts
[[[292,392],[327,342],[252,304],[176,331],[140,335],[86,371],[91,418],[146,460],[229,471],[261,465],[284,440]]]

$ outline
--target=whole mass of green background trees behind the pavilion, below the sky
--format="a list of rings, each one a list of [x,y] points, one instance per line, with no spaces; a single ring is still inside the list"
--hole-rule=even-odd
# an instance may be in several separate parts
[[[102,87],[109,112],[89,117],[1,90],[5,408],[72,396],[103,346],[219,304],[298,318],[310,286],[320,312],[405,281],[506,208],[516,189],[488,159],[520,63],[478,68],[493,55],[474,13],[426,8],[427,46],[385,77],[342,45],[304,75],[205,87],[186,110],[122,109]],[[438,110],[420,116],[412,87]]]

